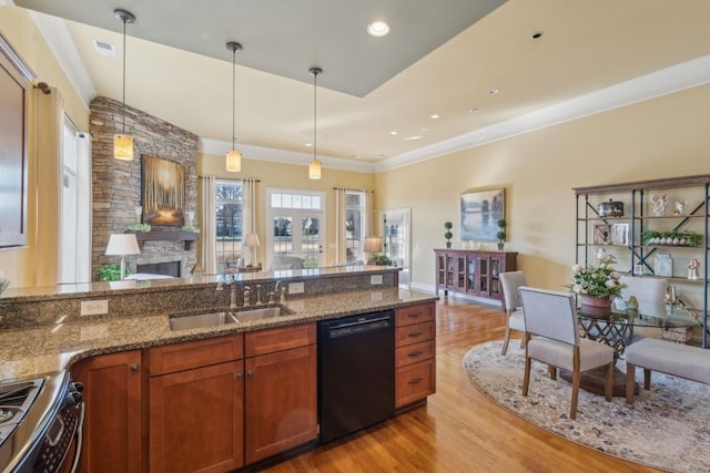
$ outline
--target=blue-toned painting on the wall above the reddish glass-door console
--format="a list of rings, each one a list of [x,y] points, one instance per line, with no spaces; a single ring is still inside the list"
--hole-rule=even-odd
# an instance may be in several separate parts
[[[462,240],[497,241],[496,223],[505,218],[505,188],[462,194]]]

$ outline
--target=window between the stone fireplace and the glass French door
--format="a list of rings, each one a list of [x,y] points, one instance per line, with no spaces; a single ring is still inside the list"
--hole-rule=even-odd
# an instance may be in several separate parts
[[[243,260],[243,202],[241,181],[217,181],[215,196],[215,258],[219,273],[241,266]]]

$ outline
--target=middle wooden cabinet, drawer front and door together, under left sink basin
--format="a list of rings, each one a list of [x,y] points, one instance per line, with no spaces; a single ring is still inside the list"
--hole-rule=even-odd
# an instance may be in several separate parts
[[[150,350],[151,472],[224,472],[244,464],[243,336]]]

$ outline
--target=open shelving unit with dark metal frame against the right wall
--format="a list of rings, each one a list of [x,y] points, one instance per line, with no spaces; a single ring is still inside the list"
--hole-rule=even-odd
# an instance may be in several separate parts
[[[587,263],[598,248],[607,248],[619,261],[619,269],[628,265],[633,276],[662,277],[669,285],[690,288],[699,295],[701,302],[697,310],[702,318],[702,347],[708,348],[708,204],[710,199],[710,175],[676,177],[667,179],[641,181],[636,183],[610,184],[572,189],[576,205],[576,255],[575,261]],[[667,196],[665,213],[653,209],[655,196]],[[621,202],[622,216],[600,216],[598,205],[608,200]],[[683,200],[683,212],[676,209],[676,202]],[[605,229],[607,230],[605,234]],[[679,244],[650,245],[642,240],[643,233],[693,232],[702,236],[700,246]],[[591,254],[590,254],[591,253]],[[668,254],[682,265],[658,275],[659,254]],[[651,257],[653,261],[651,261]],[[698,279],[689,279],[684,269],[687,261],[700,261]],[[671,259],[671,263],[673,259]],[[669,267],[670,265],[666,266]]]

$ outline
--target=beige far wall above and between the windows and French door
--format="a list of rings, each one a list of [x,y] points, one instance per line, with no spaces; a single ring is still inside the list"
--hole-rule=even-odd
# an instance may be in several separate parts
[[[257,251],[257,260],[265,261],[265,241],[266,232],[266,188],[282,189],[305,189],[318,191],[325,193],[325,210],[326,210],[326,265],[331,265],[335,259],[334,248],[334,209],[335,196],[333,187],[345,187],[353,189],[372,189],[374,188],[374,175],[368,173],[353,173],[345,171],[335,171],[323,167],[323,177],[320,181],[308,178],[308,166],[296,164],[283,164],[267,161],[254,161],[248,158],[242,160],[241,173],[229,173],[224,168],[223,155],[201,155],[197,160],[197,174],[200,176],[215,176],[220,178],[240,179],[255,178],[260,179],[256,202],[256,233],[260,235],[262,246]],[[201,200],[201,198],[199,198]],[[202,212],[202,209],[200,209]],[[373,223],[377,222],[377,214],[372,215]],[[270,225],[271,228],[271,225]]]

